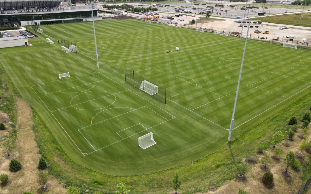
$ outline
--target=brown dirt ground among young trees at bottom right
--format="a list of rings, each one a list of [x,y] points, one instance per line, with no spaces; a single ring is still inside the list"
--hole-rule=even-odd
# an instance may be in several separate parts
[[[310,127],[309,127],[310,129]],[[261,177],[263,173],[265,172],[260,168],[262,165],[260,163],[260,159],[262,158],[262,155],[257,155],[256,160],[258,161],[257,164],[249,164],[248,167],[250,168],[250,171],[246,174],[247,178],[246,180],[229,180],[227,181],[223,186],[217,188],[215,192],[208,192],[208,193],[226,193],[226,194],[236,194],[239,192],[239,188],[244,189],[248,194],[252,193],[262,193],[262,194],[268,194],[268,193],[278,193],[278,194],[287,194],[287,193],[296,193],[298,189],[302,186],[302,181],[300,179],[301,170],[299,172],[295,171],[291,167],[288,168],[288,172],[290,174],[290,177],[285,177],[283,174],[283,171],[285,171],[285,164],[282,162],[282,159],[286,156],[286,153],[289,151],[300,152],[298,148],[298,144],[301,141],[300,138],[298,138],[299,135],[299,129],[295,133],[295,138],[293,141],[290,141],[290,147],[285,147],[282,145],[282,142],[277,144],[276,147],[280,147],[282,150],[282,156],[281,160],[276,161],[272,160],[270,163],[267,164],[267,167],[271,169],[271,172],[273,173],[274,177],[274,187],[269,189],[266,188],[261,183]],[[309,135],[310,139],[311,135]],[[283,141],[284,142],[284,141]],[[272,155],[272,150],[267,149],[266,150],[269,154]],[[304,155],[307,155],[305,151],[302,151]]]

